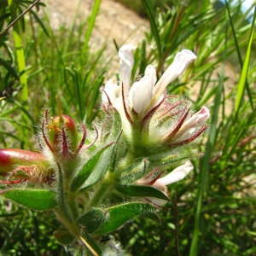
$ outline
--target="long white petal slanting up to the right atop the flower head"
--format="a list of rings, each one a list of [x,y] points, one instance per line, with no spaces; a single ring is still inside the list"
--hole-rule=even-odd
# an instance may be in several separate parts
[[[166,86],[174,79],[177,79],[186,67],[188,67],[189,63],[195,59],[196,55],[189,49],[183,49],[178,52],[171,66],[166,69],[166,72],[163,73],[160,80],[155,85],[154,94],[160,96],[166,90]]]

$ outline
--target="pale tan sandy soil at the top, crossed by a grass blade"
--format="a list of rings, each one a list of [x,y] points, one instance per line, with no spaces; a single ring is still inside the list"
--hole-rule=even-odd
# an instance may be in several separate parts
[[[83,22],[88,19],[93,0],[45,0],[51,26],[57,28],[61,24],[71,26],[73,20]],[[113,39],[120,46],[122,44],[140,44],[144,32],[149,31],[148,20],[144,20],[131,9],[113,0],[102,0],[96,17],[90,44],[98,46],[107,43],[107,50],[116,53]]]

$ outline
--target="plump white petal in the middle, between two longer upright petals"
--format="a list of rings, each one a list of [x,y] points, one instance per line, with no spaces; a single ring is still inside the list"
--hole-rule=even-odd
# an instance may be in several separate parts
[[[152,100],[153,88],[156,82],[156,73],[153,66],[148,65],[142,79],[131,86],[129,93],[130,107],[139,115],[143,114]]]

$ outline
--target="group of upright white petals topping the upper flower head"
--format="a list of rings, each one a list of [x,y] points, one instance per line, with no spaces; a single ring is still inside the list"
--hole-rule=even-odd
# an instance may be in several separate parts
[[[177,53],[172,65],[167,68],[157,84],[155,84],[155,69],[153,66],[148,65],[143,78],[131,86],[131,71],[134,65],[134,59],[131,53],[133,49],[136,49],[136,47],[132,44],[125,44],[119,49],[119,85],[113,84],[113,80],[110,80],[105,85],[104,91],[108,95],[113,107],[118,107],[117,110],[119,113],[131,115],[131,110],[133,109],[138,114],[138,117],[143,118],[146,114],[146,110],[148,110],[148,106],[151,108],[154,107],[165,92],[166,86],[183,73],[189,63],[195,60],[196,55],[189,49],[183,49],[181,52]],[[110,84],[113,84],[112,88]],[[121,87],[119,94],[117,94],[117,86]],[[114,102],[117,101],[118,97],[123,104],[115,106]],[[106,96],[102,96],[102,102],[107,102]],[[123,111],[123,109],[120,108],[126,109]]]

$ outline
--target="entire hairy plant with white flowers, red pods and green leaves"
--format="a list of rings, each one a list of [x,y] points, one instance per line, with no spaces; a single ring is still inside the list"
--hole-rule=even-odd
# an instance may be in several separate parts
[[[55,238],[63,245],[80,241],[84,253],[122,255],[113,239],[101,235],[131,218],[155,214],[170,200],[167,185],[193,169],[189,152],[207,129],[209,110],[193,113],[189,103],[166,94],[166,86],[196,56],[177,53],[157,81],[149,65],[131,85],[133,45],[119,49],[119,82],[102,88],[105,118],[88,131],[61,112],[45,111],[38,135],[40,153],[0,149],[1,195],[38,211],[53,211],[60,221]],[[58,101],[60,102],[60,101]]]

